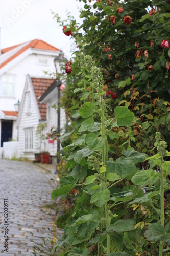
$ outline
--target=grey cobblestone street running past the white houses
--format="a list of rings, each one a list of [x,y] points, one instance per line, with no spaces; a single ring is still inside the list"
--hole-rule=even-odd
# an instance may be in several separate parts
[[[0,160],[0,255],[33,255],[33,246],[43,244],[41,238],[48,237],[56,212],[45,206],[52,204],[54,178],[52,172],[35,164]],[[8,201],[8,221],[4,220],[4,199]],[[8,252],[4,251],[5,232]],[[57,236],[61,234],[58,229]]]

